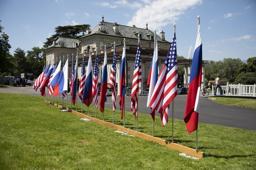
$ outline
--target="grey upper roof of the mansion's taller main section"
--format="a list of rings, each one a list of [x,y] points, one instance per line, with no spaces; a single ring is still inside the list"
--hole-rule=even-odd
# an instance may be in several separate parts
[[[102,24],[104,25],[104,31],[101,31],[100,29]],[[118,33],[114,31],[113,29],[114,25],[118,26],[118,31],[119,31]],[[118,25],[117,23],[100,22],[95,28],[91,30],[91,32],[80,37],[79,39],[83,39],[85,37],[88,37],[90,35],[95,35],[95,34],[138,39],[138,33],[142,34],[141,40],[152,40],[151,35],[154,36],[154,32],[146,28],[137,28],[135,26],[130,27],[126,25]],[[158,35],[156,37],[157,37],[157,42],[170,43],[166,40],[162,40]]]

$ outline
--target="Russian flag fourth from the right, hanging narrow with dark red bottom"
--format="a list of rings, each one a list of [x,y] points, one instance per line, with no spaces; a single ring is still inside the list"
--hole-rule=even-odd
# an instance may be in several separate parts
[[[102,73],[102,83],[100,91],[100,100],[99,100],[99,110],[104,113],[104,107],[106,102],[106,92],[108,90],[108,80],[107,80],[107,56],[106,56],[106,46],[105,46],[105,56],[103,64],[103,73]]]

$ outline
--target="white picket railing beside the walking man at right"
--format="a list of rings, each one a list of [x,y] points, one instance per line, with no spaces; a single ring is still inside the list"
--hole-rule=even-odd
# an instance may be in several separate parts
[[[252,96],[256,97],[256,85],[222,85],[221,86],[223,94],[227,96]],[[215,86],[212,85],[212,94],[214,93]],[[217,89],[217,94],[219,93],[219,88]]]

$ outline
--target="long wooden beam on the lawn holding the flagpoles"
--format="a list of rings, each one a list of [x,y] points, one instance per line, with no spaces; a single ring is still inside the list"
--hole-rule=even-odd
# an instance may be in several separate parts
[[[84,115],[82,113],[79,113],[75,110],[71,110],[69,108],[66,108],[64,106],[61,106],[61,105],[57,105],[56,103],[51,103],[49,101],[46,101],[44,100],[44,102],[48,103],[48,104],[51,104],[53,106],[57,106],[61,109],[65,109],[79,117],[83,117],[83,118],[86,118],[86,119],[90,119],[94,122],[97,122],[99,124],[103,124],[107,127],[111,127],[113,129],[116,129],[117,131],[123,131],[123,132],[127,132],[128,134],[130,135],[134,135],[136,137],[139,137],[139,138],[142,138],[144,140],[147,140],[147,141],[153,141],[153,142],[157,142],[161,145],[165,145],[166,147],[170,148],[170,149],[175,149],[175,150],[178,150],[179,152],[182,152],[182,153],[186,153],[187,155],[190,155],[190,156],[194,156],[196,158],[203,158],[205,157],[205,152],[201,152],[201,151],[198,151],[196,149],[192,149],[192,148],[189,148],[187,146],[183,146],[183,145],[179,145],[179,144],[176,144],[176,143],[172,143],[170,141],[167,141],[167,140],[164,140],[164,139],[161,139],[161,138],[156,138],[154,136],[151,136],[151,135],[147,135],[147,134],[144,134],[144,133],[141,133],[141,132],[138,132],[138,131],[134,131],[132,129],[128,129],[128,128],[125,128],[125,127],[121,127],[119,125],[116,125],[116,124],[112,124],[112,123],[109,123],[109,122],[105,122],[103,120],[99,120],[99,119],[95,119],[94,117],[90,117],[90,116],[87,116],[87,115]]]

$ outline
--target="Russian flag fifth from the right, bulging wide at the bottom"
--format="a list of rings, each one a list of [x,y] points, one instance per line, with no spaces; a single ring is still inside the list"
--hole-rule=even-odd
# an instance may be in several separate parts
[[[92,102],[92,71],[91,71],[91,55],[89,56],[88,66],[86,71],[86,78],[84,83],[84,94],[83,94],[83,103],[86,106],[90,106]]]

